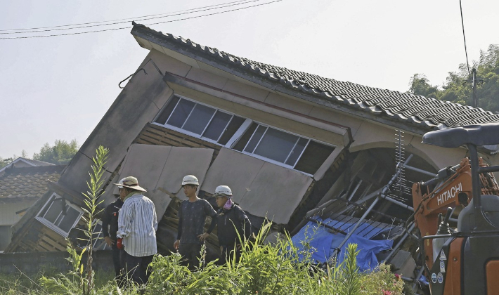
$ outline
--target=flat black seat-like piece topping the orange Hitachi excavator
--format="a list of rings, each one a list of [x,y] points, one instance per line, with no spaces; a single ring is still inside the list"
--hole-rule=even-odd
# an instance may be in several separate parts
[[[428,132],[423,143],[439,147],[460,147],[472,145],[495,145],[499,143],[499,123],[467,125]]]

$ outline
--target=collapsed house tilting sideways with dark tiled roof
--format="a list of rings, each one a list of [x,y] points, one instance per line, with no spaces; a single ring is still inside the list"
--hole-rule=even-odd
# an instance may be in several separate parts
[[[412,214],[412,182],[467,153],[422,145],[422,135],[499,122],[480,108],[258,63],[143,25],[131,34],[148,55],[23,216],[7,251],[65,249],[70,229],[82,223],[81,192],[98,145],[110,149],[105,204],[117,194],[112,183],[136,176],[161,218],[160,253],[173,250],[187,174],[199,178],[199,196],[212,204],[216,186],[229,185],[255,228],[267,218],[274,231],[296,234],[330,220],[330,233],[391,239],[395,248]],[[486,162],[497,164],[494,152],[482,152]]]

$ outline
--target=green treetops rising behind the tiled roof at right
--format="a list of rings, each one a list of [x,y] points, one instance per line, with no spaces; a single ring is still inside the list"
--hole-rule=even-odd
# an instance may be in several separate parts
[[[483,84],[477,87],[478,107],[499,111],[499,45],[491,44],[487,51],[480,51],[480,59],[474,61],[477,79]],[[439,100],[472,105],[472,77],[467,65],[459,65],[457,72],[449,72],[442,87],[432,85],[424,74],[414,74],[409,82],[409,93]]]

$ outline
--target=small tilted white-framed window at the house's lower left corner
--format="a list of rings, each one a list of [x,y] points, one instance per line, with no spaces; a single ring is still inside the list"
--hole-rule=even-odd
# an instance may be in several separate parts
[[[63,197],[54,193],[39,212],[37,219],[67,237],[71,228],[78,223],[80,216],[82,211],[77,206],[69,204]]]

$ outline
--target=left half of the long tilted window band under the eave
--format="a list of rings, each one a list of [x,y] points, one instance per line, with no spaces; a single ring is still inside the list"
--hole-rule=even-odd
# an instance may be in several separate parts
[[[174,96],[156,123],[184,133],[226,145],[245,119],[186,98]]]

